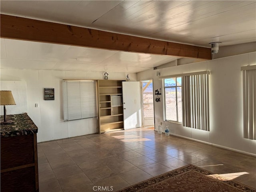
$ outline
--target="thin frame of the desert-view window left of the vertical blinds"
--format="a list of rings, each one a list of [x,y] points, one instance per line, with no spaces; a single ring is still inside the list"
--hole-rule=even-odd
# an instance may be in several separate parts
[[[165,80],[166,79],[174,79],[175,78],[175,84],[176,84],[176,86],[165,86]],[[182,83],[181,83],[181,85],[180,86],[178,86],[177,85],[177,78],[181,78],[181,81],[182,81],[182,77],[181,76],[176,76],[176,77],[170,77],[170,78],[164,78],[163,79],[163,83],[164,83],[164,117],[165,117],[165,121],[167,121],[167,122],[172,122],[172,123],[177,123],[177,124],[182,124],[182,117],[181,117],[181,122],[179,122],[179,117],[178,117],[178,94],[177,94],[177,88],[178,87],[181,87],[181,90],[182,90]],[[166,118],[166,88],[175,88],[175,98],[176,98],[176,121],[175,120],[168,120],[167,118]],[[182,110],[181,110],[181,112],[182,112]]]

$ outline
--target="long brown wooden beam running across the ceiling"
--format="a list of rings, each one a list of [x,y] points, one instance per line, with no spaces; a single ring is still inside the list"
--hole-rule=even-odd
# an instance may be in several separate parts
[[[0,15],[0,36],[146,54],[211,59],[211,49],[10,15]]]

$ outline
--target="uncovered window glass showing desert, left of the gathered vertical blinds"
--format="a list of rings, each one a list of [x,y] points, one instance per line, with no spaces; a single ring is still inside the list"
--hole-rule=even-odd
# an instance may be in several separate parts
[[[165,119],[182,122],[182,78],[164,79]]]

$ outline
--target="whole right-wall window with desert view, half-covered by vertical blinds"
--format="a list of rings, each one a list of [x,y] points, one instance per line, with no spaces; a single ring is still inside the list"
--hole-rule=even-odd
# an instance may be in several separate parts
[[[209,131],[209,71],[160,76],[164,79],[165,118]]]

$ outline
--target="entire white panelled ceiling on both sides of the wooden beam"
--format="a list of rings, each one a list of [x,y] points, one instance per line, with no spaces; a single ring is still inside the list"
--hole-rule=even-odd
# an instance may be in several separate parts
[[[210,47],[256,41],[256,1],[0,1],[1,14]],[[175,60],[1,39],[1,68],[140,72]],[[21,63],[21,64],[20,64]]]

